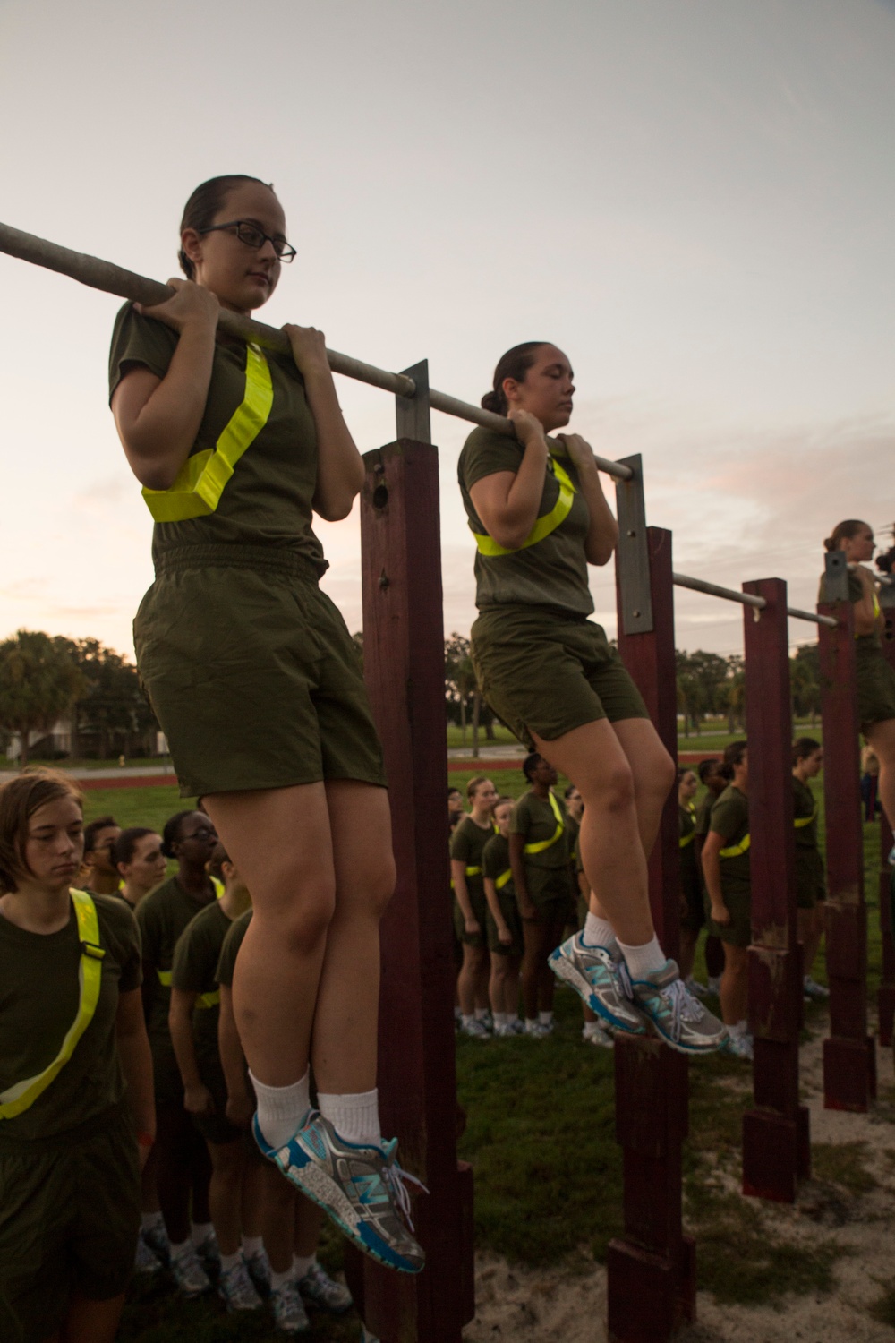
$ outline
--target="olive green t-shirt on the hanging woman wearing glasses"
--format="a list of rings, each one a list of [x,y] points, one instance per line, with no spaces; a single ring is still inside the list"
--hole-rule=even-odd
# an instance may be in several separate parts
[[[119,310],[109,352],[109,396],[134,367],[164,377],[178,334],[141,317],[130,304]],[[274,387],[267,423],[243,453],[213,513],[180,522],[156,522],[153,559],[182,545],[268,545],[303,556],[318,576],[327,568],[311,529],[317,489],[317,428],[295,361],[264,352]],[[191,457],[215,449],[246,395],[246,346],[219,337],[205,414]]]

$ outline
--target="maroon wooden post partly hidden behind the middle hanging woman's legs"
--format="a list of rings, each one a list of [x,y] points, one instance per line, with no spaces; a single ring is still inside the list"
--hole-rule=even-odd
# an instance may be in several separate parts
[[[625,465],[639,458],[628,458]],[[619,521],[631,530],[636,521],[623,506]],[[645,591],[636,579],[617,583],[619,649],[643,694],[649,716],[672,759],[678,757],[674,587],[671,532],[647,529]],[[621,556],[620,556],[621,559]],[[619,568],[621,564],[619,565]],[[627,611],[632,606],[631,612]],[[652,607],[651,630],[628,634],[625,615],[643,622]],[[662,817],[659,839],[649,860],[649,904],[656,933],[668,956],[676,956],[680,936],[678,878],[678,796],[672,788]],[[656,1039],[617,1035],[616,1140],[624,1154],[624,1236],[609,1245],[609,1339],[613,1343],[663,1343],[696,1313],[695,1246],[680,1222],[680,1147],[687,1136],[687,1058]]]

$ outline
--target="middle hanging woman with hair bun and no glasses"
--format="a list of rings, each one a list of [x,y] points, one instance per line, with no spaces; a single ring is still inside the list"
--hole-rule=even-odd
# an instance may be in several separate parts
[[[551,968],[616,1030],[652,1029],[675,1049],[704,1053],[725,1029],[659,947],[647,890],[674,764],[621,658],[588,619],[588,564],[608,564],[617,524],[589,445],[577,434],[547,436],[569,423],[573,392],[562,351],[517,345],[482,398],[509,415],[515,438],[476,428],[460,454],[478,545],[472,661],[491,708],[584,799],[590,909]]]

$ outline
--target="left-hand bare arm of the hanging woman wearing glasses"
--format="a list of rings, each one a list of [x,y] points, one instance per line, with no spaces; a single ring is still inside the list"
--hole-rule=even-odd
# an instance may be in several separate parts
[[[191,281],[169,279],[177,293],[156,308],[137,312],[156,317],[180,333],[162,379],[148,368],[125,373],[111,398],[115,428],[127,463],[146,489],[166,490],[189,457],[205,414],[215,332],[216,297]]]

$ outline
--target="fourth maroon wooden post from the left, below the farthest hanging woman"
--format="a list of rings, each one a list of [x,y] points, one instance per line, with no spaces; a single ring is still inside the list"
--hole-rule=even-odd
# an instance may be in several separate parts
[[[867,907],[861,825],[855,614],[848,600],[817,607],[820,627],[827,819],[827,975],[829,1038],[824,1041],[824,1105],[865,1111],[876,1096],[876,1053],[867,1034]]]

